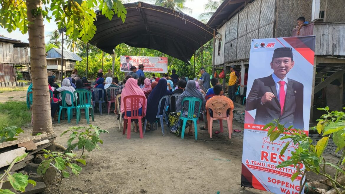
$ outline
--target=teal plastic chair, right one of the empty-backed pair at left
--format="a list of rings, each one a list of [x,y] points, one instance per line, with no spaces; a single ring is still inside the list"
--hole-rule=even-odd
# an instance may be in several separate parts
[[[91,97],[92,93],[89,90],[86,89],[77,89],[74,92],[74,96],[78,95],[78,105],[76,106],[77,109],[77,124],[80,121],[80,115],[81,115],[81,109],[85,110],[85,118],[87,121],[87,124],[90,124],[90,116],[89,116],[89,109],[91,108],[91,117],[92,121],[95,121],[95,118],[93,118],[93,107],[91,105]]]

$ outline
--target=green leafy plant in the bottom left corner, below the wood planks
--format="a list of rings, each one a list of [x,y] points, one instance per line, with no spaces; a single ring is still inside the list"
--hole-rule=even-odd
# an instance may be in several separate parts
[[[14,174],[9,173],[11,171],[13,165],[16,162],[21,161],[21,159],[25,158],[27,155],[28,155],[28,153],[23,154],[21,156],[17,156],[16,158],[14,158],[14,160],[11,162],[10,166],[7,168],[7,170],[5,170],[5,173],[0,174],[0,194],[15,194],[8,189],[2,189],[2,184],[4,182],[10,182],[11,186],[15,190],[21,191],[21,192],[25,191],[25,188],[29,183],[32,184],[33,186],[36,186],[36,182],[34,182],[33,180],[29,180],[28,175],[23,175],[22,173],[14,173]],[[7,180],[5,180],[5,178],[7,178]]]

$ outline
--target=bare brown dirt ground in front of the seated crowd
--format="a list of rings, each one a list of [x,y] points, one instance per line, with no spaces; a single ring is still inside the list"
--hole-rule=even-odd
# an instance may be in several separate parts
[[[10,92],[14,94],[14,92]],[[25,91],[16,93],[19,99]],[[0,100],[6,97],[0,94]],[[25,98],[24,98],[25,99]],[[264,194],[252,188],[240,187],[243,132],[228,137],[226,122],[224,133],[213,134],[198,130],[198,140],[185,135],[185,139],[167,133],[161,128],[147,132],[143,139],[139,133],[131,133],[131,139],[120,132],[119,121],[114,113],[95,113],[90,122],[109,134],[102,134],[101,151],[86,153],[86,166],[79,176],[63,179],[60,194]],[[200,122],[198,127],[203,126]],[[68,127],[76,126],[61,120],[53,122],[55,132],[60,135]],[[82,117],[78,126],[88,126]],[[164,126],[167,130],[166,125]],[[219,130],[214,123],[213,130]],[[30,127],[23,127],[27,134]],[[233,122],[233,129],[243,130],[243,124]],[[57,137],[57,142],[67,146],[68,135]],[[81,151],[76,151],[78,155]],[[332,155],[329,155],[332,157]],[[310,177],[308,177],[310,178]]]

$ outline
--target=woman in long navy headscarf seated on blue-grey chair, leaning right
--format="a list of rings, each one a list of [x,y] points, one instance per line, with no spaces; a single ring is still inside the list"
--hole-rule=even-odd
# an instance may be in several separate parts
[[[159,111],[159,113],[162,113],[164,106],[161,107],[160,110],[158,110],[158,103],[159,100],[165,96],[170,95],[172,92],[170,90],[167,90],[167,80],[166,79],[160,79],[158,81],[157,86],[152,89],[151,94],[149,95],[147,99],[147,114],[146,119],[149,123],[154,123],[156,120],[156,115]],[[162,101],[162,104],[165,104],[165,101]]]

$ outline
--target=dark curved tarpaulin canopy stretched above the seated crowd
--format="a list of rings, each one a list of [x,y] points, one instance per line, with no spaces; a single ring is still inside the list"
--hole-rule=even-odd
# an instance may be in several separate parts
[[[125,3],[126,20],[110,21],[97,12],[96,34],[90,44],[112,54],[120,43],[161,51],[186,63],[213,38],[213,29],[184,13],[143,2]],[[130,55],[130,53],[128,54]]]

